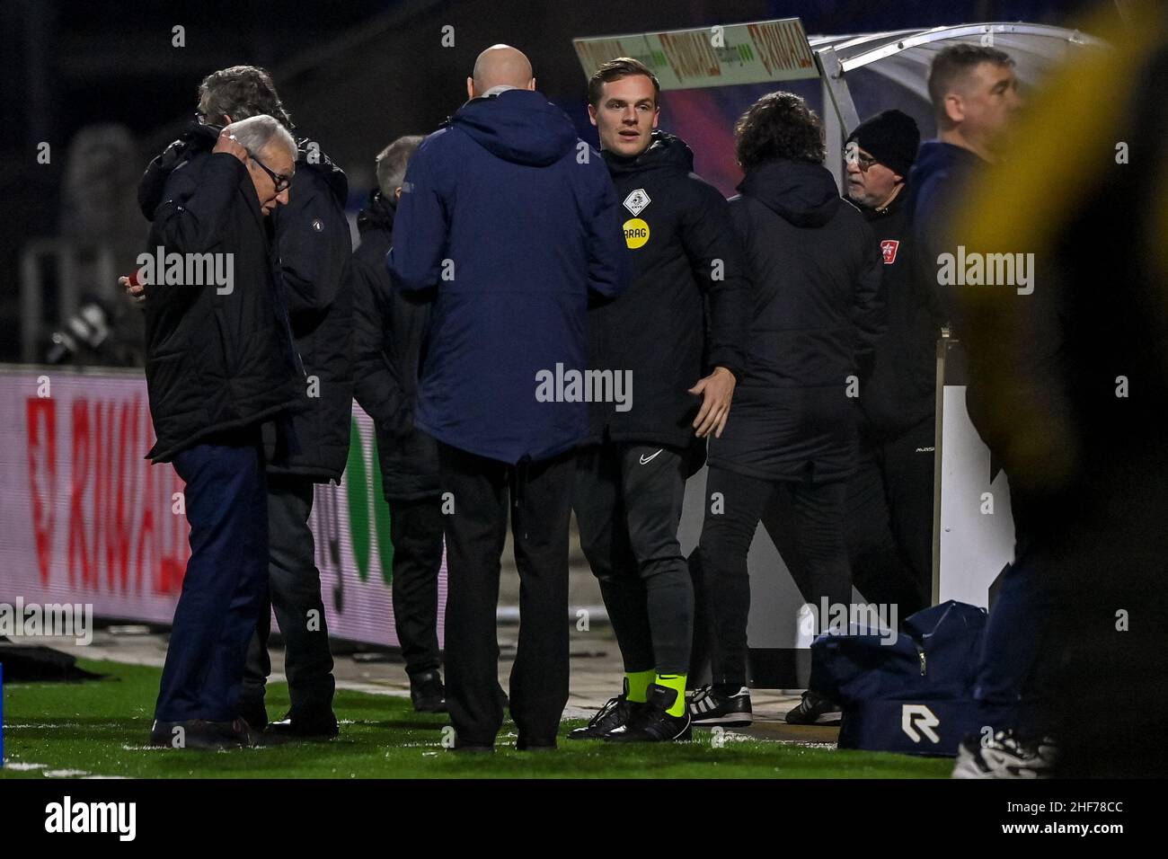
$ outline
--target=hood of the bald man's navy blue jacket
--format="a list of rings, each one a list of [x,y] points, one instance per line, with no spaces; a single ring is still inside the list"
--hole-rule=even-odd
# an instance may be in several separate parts
[[[534,167],[555,164],[578,139],[571,119],[542,93],[530,90],[472,98],[458,109],[451,125],[493,155]]]

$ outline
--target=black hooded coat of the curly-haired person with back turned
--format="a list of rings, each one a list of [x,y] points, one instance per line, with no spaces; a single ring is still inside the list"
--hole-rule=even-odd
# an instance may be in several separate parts
[[[863,374],[884,330],[876,241],[820,165],[771,161],[738,189],[730,208],[752,284],[750,349],[710,465],[844,479],[855,470],[849,376]]]

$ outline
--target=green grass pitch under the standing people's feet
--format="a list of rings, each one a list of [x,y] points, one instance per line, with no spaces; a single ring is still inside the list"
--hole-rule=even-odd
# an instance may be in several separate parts
[[[405,698],[338,690],[341,736],[327,743],[232,751],[146,746],[159,669],[109,661],[81,667],[107,674],[86,683],[5,684],[0,778],[82,775],[147,778],[930,778],[948,760],[808,748],[708,730],[669,746],[562,740],[556,753],[516,751],[503,723],[494,755],[456,755],[442,746],[445,715],[419,715]],[[283,715],[287,687],[269,687],[269,713]],[[583,721],[564,722],[562,734]]]

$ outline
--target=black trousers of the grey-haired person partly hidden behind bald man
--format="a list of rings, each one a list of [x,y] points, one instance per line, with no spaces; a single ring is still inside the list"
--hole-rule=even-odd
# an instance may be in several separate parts
[[[394,625],[412,678],[434,671],[438,656],[438,573],[445,521],[442,500],[389,501],[394,541]]]

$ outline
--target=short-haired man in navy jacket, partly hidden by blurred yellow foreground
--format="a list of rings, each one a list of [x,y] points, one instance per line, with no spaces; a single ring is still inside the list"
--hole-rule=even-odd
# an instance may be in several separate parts
[[[955,254],[967,241],[960,216],[967,215],[969,188],[985,180],[990,165],[1008,155],[1022,99],[1009,55],[969,44],[952,46],[933,58],[929,93],[939,139],[922,145],[908,202],[917,277],[936,298],[938,327],[948,324],[958,340],[967,342],[969,304],[962,290],[968,288],[940,285],[940,255]],[[1057,365],[1057,338],[1033,333],[1029,340],[1030,372],[1049,372]],[[1007,451],[993,434],[986,432],[983,421],[988,406],[983,390],[995,380],[985,374],[985,363],[976,353],[967,354],[972,359],[966,386],[969,418],[992,455],[1001,457]],[[997,597],[990,607],[973,692],[979,723],[990,726],[993,732],[989,739],[971,735],[962,741],[954,770],[958,777],[1033,777],[1051,766],[1048,743],[1031,743],[1029,739],[1022,743],[1016,734],[1018,706],[1026,704],[1023,692],[1036,691],[1028,681],[1033,679],[1031,667],[1050,614],[1050,588],[1043,583],[1040,550],[1049,525],[1049,499],[1017,484],[1009,469],[1006,473],[1011,482],[1014,561],[997,580]]]

